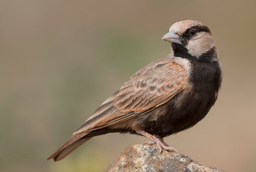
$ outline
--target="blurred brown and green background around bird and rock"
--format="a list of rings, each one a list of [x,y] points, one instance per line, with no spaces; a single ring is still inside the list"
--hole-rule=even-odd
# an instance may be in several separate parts
[[[224,71],[218,101],[185,132],[165,138],[224,171],[255,167],[255,1],[0,1],[0,171],[103,171],[131,143],[107,134],[60,162],[58,147],[128,77],[170,53],[176,21],[209,26]]]

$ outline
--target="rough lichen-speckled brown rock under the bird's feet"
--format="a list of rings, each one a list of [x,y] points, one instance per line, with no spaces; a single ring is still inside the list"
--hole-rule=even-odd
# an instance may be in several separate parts
[[[198,164],[181,153],[163,151],[156,145],[128,145],[118,160],[108,165],[105,171],[221,171]]]

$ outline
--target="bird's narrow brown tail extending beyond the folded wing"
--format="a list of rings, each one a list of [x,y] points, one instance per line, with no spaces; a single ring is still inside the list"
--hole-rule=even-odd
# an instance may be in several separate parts
[[[90,136],[86,137],[87,134],[88,133],[82,133],[77,136],[73,136],[69,141],[67,141],[67,143],[62,145],[62,147],[60,147],[49,158],[47,158],[47,160],[50,160],[51,158],[53,158],[54,161],[62,160],[73,150],[92,138]]]

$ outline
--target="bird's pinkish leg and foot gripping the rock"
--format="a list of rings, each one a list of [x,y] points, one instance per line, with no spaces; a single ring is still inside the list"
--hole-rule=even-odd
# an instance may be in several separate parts
[[[177,151],[173,147],[170,147],[167,145],[164,141],[163,138],[159,136],[153,136],[152,134],[149,134],[148,132],[145,132],[143,130],[135,130],[137,134],[141,134],[142,136],[146,136],[147,138],[150,138],[150,142],[148,142],[149,145],[156,144],[156,146],[159,148],[159,152],[161,152],[163,149],[165,151]]]

